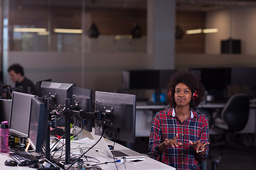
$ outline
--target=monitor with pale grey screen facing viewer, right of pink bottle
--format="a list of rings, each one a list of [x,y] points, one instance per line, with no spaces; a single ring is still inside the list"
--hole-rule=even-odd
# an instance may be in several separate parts
[[[10,135],[28,137],[29,118],[31,114],[31,94],[14,91],[11,98]]]

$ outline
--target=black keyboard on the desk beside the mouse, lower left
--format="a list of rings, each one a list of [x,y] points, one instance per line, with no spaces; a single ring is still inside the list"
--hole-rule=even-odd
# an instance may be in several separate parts
[[[38,159],[26,151],[10,153],[9,156],[18,163],[19,166],[28,166],[38,162]]]

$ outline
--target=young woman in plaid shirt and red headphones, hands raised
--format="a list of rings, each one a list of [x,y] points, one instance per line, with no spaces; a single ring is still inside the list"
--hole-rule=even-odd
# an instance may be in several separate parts
[[[149,153],[176,169],[200,169],[209,152],[208,118],[193,108],[205,89],[189,72],[174,74],[168,89],[171,107],[154,115]]]

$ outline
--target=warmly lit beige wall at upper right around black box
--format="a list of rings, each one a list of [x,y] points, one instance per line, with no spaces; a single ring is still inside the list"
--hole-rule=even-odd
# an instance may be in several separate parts
[[[256,6],[208,12],[206,27],[218,28],[219,32],[206,35],[206,54],[220,54],[220,40],[233,38],[241,40],[242,54],[256,55],[255,18]]]

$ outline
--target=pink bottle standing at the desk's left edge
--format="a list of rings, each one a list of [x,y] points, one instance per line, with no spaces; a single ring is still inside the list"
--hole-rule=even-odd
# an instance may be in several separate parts
[[[0,123],[0,152],[9,152],[9,125],[7,121]]]

